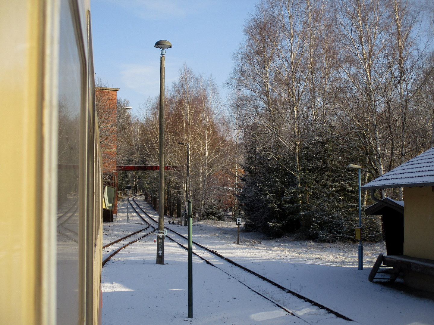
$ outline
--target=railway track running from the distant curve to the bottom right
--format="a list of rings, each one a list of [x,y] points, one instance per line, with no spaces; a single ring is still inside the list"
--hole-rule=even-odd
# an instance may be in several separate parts
[[[143,218],[131,201],[128,201],[129,204],[131,204],[134,211],[146,224],[148,224],[150,227],[155,228],[154,229],[155,231],[158,228],[158,221],[152,218],[151,215],[149,215],[137,203],[137,201],[135,200],[137,196],[140,195],[132,196],[131,197],[132,201],[135,203],[136,207],[139,210],[141,210],[143,214],[145,214],[145,217],[149,218],[150,220],[147,221],[145,218]],[[167,236],[168,239],[172,240],[173,242],[175,242],[176,244],[178,244],[179,246],[187,250],[187,247],[185,245],[188,240],[187,237],[178,233],[177,231],[174,231],[169,227],[166,227],[166,229],[171,233],[173,233],[175,237],[178,236],[181,238],[181,240],[176,240],[173,236]],[[184,244],[182,242],[184,242]],[[267,300],[270,300],[279,308],[285,310],[286,312],[289,312],[290,314],[298,317],[299,319],[302,319],[303,321],[309,324],[318,321],[318,317],[315,316],[324,318],[327,317],[327,314],[329,314],[329,317],[330,315],[334,315],[338,319],[342,319],[348,322],[354,322],[352,319],[350,319],[345,315],[342,315],[340,312],[337,312],[327,306],[320,304],[319,302],[309,299],[308,297],[303,296],[300,293],[297,293],[291,289],[285,288],[281,286],[279,283],[276,283],[273,280],[270,280],[265,276],[256,273],[255,271],[250,270],[247,267],[242,266],[227,257],[224,257],[220,253],[217,253],[216,251],[208,247],[205,247],[195,241],[193,241],[193,244],[194,244],[193,254],[199,257],[201,260],[204,260],[204,262],[218,268],[219,270],[223,271],[227,275],[233,277],[235,280],[242,283],[244,286],[246,286],[253,292],[257,293],[258,295],[262,296]],[[246,272],[249,276],[246,275]],[[257,285],[258,279],[262,280],[264,283],[258,286]],[[292,302],[288,303],[288,301],[292,301]],[[290,305],[289,308],[286,307],[288,306],[288,304]],[[308,312],[306,312],[306,310]],[[314,317],[312,317],[312,315],[314,315]]]

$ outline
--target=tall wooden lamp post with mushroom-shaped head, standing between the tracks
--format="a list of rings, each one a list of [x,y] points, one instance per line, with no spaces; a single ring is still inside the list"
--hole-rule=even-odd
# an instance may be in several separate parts
[[[164,264],[164,69],[166,49],[171,42],[161,39],[155,43],[161,49],[160,57],[160,195],[158,200],[157,264]]]

